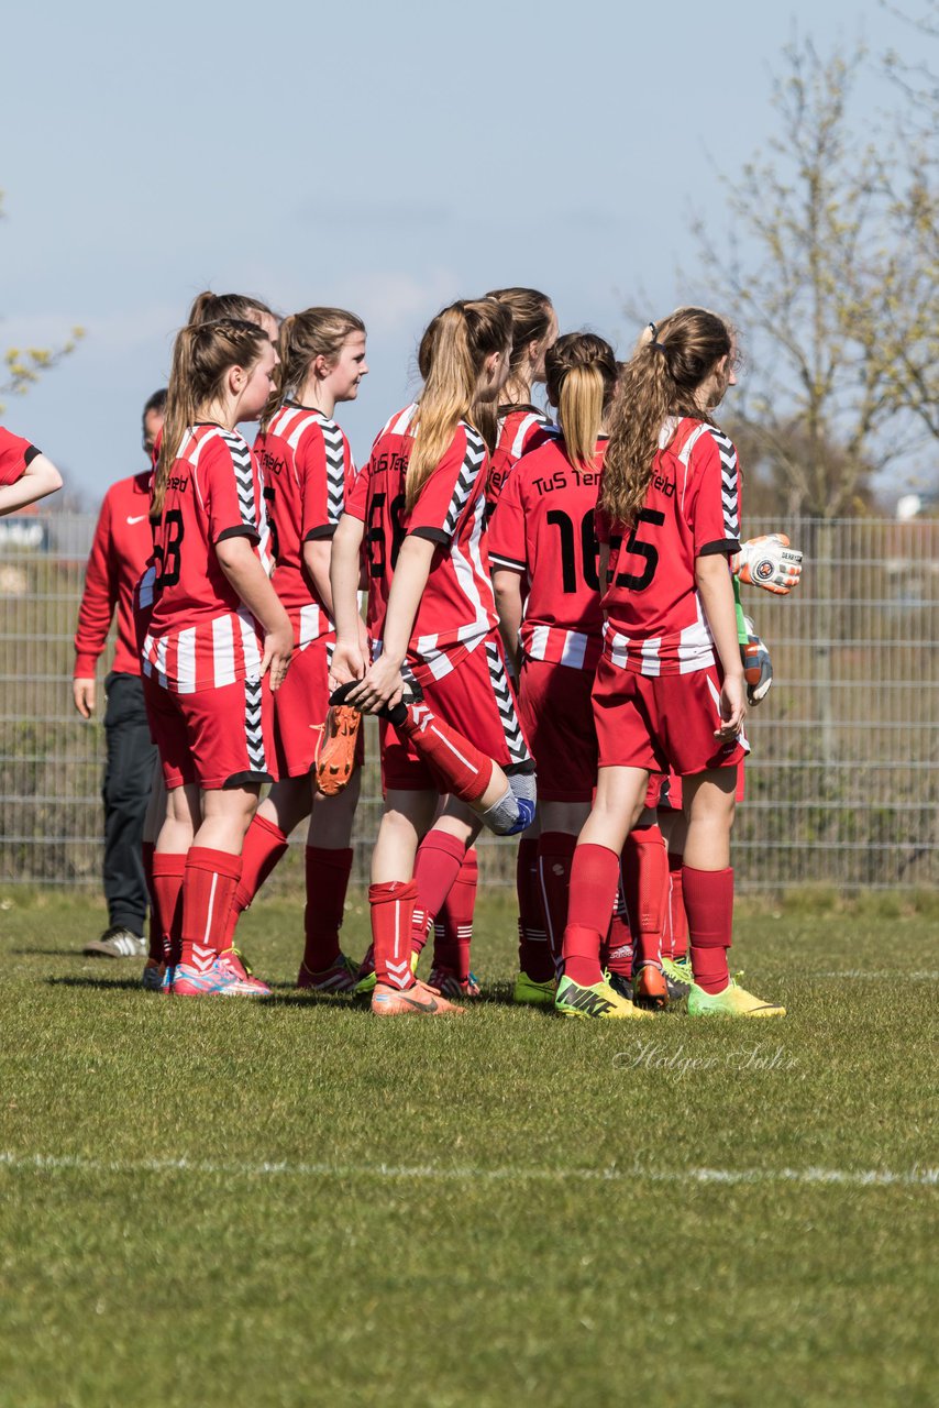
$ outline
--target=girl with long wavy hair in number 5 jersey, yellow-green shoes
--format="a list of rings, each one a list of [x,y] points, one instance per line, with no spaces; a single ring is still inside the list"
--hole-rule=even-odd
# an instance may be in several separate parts
[[[652,1018],[600,967],[619,853],[652,773],[683,777],[681,873],[691,934],[693,1017],[781,1017],[731,979],[731,825],[748,749],[731,558],[739,551],[736,449],[712,420],[733,386],[735,338],[704,308],[650,325],[619,377],[597,531],[605,614],[593,691],[597,796],[577,838],[563,974],[569,1017]]]

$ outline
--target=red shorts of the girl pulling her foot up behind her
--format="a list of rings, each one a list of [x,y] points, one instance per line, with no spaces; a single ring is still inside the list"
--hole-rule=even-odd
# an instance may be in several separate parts
[[[531,762],[528,741],[505,672],[503,643],[493,631],[465,660],[424,686],[424,698],[438,718],[510,772]],[[403,743],[390,724],[382,724],[382,787],[391,791],[438,791],[431,769]]]

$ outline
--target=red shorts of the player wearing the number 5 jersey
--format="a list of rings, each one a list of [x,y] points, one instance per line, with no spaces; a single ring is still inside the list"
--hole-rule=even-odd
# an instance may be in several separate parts
[[[594,724],[601,767],[648,767],[657,773],[704,773],[735,767],[746,755],[743,735],[722,743],[721,676],[717,666],[693,674],[638,674],[605,656],[594,684]]]

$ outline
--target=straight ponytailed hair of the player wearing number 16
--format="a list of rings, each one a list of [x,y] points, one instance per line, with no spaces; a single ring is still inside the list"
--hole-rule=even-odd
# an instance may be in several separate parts
[[[572,465],[588,469],[617,390],[617,356],[595,332],[566,332],[545,353],[548,400],[557,407]]]

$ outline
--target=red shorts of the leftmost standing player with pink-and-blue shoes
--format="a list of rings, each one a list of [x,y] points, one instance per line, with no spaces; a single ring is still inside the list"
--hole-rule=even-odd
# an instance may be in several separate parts
[[[176,694],[151,679],[145,698],[168,788],[198,783],[214,791],[275,780],[273,705],[266,674],[197,694]]]

